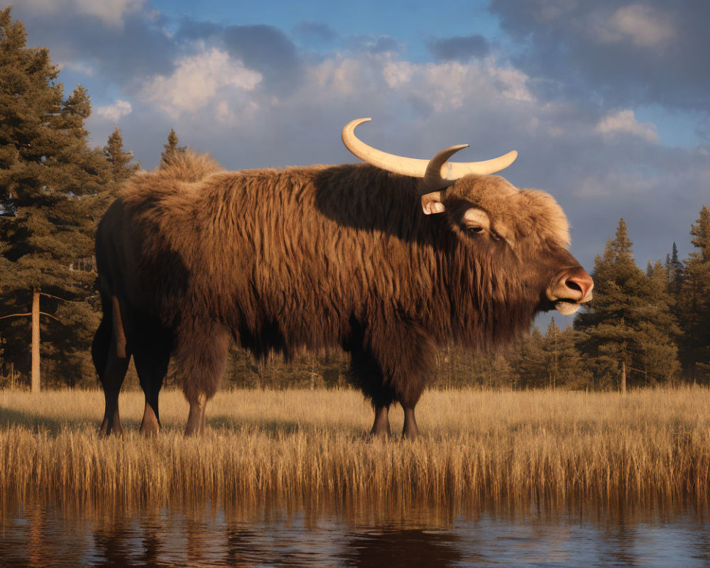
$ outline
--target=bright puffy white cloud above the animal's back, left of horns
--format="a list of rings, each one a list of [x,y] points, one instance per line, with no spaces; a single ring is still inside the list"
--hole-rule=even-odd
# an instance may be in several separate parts
[[[239,107],[253,108],[249,93],[261,82],[261,74],[212,48],[177,62],[173,75],[158,75],[141,89],[142,99],[169,116],[177,117],[214,106],[217,115],[236,116]]]

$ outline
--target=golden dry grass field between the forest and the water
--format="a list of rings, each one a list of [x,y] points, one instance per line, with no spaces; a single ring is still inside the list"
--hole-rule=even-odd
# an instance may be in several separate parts
[[[710,495],[710,391],[431,391],[417,442],[370,442],[359,393],[228,391],[208,432],[185,439],[182,394],[161,396],[163,432],[138,434],[143,397],[121,395],[124,437],[99,439],[98,391],[0,391],[0,503],[202,500],[512,503]],[[393,432],[402,413],[391,413]]]

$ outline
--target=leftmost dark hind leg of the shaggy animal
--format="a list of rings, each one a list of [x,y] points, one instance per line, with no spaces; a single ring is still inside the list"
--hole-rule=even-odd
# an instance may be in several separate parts
[[[103,299],[103,298],[102,298]],[[104,419],[99,434],[122,434],[119,418],[119,392],[124,382],[131,354],[124,334],[121,310],[116,297],[104,301],[104,317],[92,343],[92,358],[104,389]]]

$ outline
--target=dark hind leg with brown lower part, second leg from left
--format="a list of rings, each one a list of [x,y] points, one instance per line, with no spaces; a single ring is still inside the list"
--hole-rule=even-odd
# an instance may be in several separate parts
[[[136,321],[133,327],[133,362],[136,364],[141,388],[146,395],[141,433],[157,434],[160,430],[158,395],[168,372],[172,339],[168,332],[160,329],[154,322]]]

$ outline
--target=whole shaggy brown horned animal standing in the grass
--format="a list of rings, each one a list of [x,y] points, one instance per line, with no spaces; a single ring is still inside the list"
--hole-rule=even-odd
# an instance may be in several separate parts
[[[555,200],[489,175],[514,152],[402,158],[359,141],[364,120],[343,141],[368,163],[229,172],[186,152],[126,183],[96,238],[103,434],[121,432],[131,355],[146,395],[141,431],[160,427],[173,357],[190,403],[185,433],[201,432],[236,343],[257,357],[342,347],[373,405],[371,433],[389,435],[397,402],[413,438],[440,346],[495,348],[537,312],[571,313],[591,298]]]

